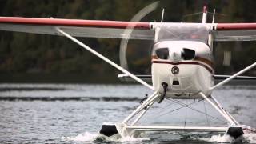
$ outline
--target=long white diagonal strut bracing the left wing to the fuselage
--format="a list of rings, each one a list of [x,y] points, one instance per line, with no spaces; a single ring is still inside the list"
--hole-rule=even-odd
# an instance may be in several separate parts
[[[117,68],[118,70],[121,70],[123,73],[129,75],[131,78],[134,78],[134,80],[136,80],[137,82],[140,82],[142,85],[150,88],[151,90],[154,90],[153,86],[150,86],[148,83],[142,81],[142,79],[136,77],[134,74],[131,74],[129,71],[125,70],[124,68],[122,68],[121,66],[118,66],[116,63],[110,61],[110,59],[104,57],[102,54],[99,54],[97,51],[93,50],[92,48],[90,48],[89,46],[86,46],[84,43],[78,41],[78,39],[72,37],[70,34],[67,34],[66,32],[62,31],[61,29],[59,29],[58,27],[56,27],[56,30],[58,30],[58,32],[60,32],[61,34],[63,34],[64,36],[66,36],[66,38],[70,38],[70,40],[72,40],[73,42],[76,42],[79,46],[82,46],[83,48],[85,48],[86,50],[89,50],[92,54],[95,54],[96,56],[98,56],[98,58],[102,58],[102,60],[104,60],[105,62],[108,62],[111,66],[114,66],[115,68]]]

